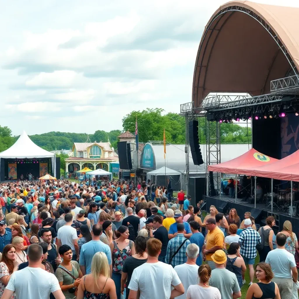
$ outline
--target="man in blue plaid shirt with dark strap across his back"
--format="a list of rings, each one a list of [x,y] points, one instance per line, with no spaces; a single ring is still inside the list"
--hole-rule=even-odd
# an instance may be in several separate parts
[[[165,262],[171,264],[173,267],[187,262],[186,248],[191,243],[184,237],[184,230],[184,223],[178,223],[178,233],[174,238],[169,240],[167,245]],[[181,248],[179,249],[180,246]],[[179,251],[177,252],[178,249]]]

